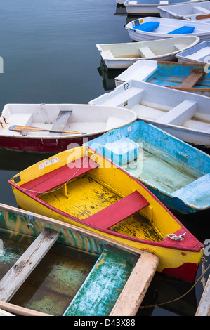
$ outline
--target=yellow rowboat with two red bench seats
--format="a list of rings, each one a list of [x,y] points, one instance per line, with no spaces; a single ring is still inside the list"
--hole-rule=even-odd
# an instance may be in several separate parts
[[[136,178],[88,147],[39,161],[9,183],[20,208],[154,253],[158,272],[195,281],[204,246]]]

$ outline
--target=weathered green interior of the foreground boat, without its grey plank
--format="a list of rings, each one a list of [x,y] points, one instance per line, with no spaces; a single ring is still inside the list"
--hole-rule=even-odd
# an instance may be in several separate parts
[[[63,315],[72,301],[74,308],[70,305],[68,313],[80,315],[84,308],[82,301],[90,302],[94,297],[94,303],[89,304],[88,309],[86,306],[90,313],[87,315],[109,315],[139,256],[47,221],[35,220],[32,215],[22,216],[0,209],[0,237],[5,245],[0,256],[0,277],[44,227],[59,230],[58,244],[10,302],[48,314]],[[6,248],[8,239],[14,245],[13,249]]]

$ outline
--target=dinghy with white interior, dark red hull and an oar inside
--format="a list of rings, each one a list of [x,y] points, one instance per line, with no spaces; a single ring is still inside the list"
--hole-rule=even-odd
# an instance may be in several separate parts
[[[136,120],[132,111],[76,104],[7,104],[0,117],[0,147],[59,152],[71,143]]]

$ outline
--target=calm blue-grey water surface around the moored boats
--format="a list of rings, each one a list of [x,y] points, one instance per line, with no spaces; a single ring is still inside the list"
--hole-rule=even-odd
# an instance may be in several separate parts
[[[1,0],[1,111],[6,103],[88,103],[112,90],[119,72],[103,69],[96,44],[131,41],[124,29],[131,18],[123,13],[115,0]],[[17,206],[8,180],[47,157],[0,150],[0,202]],[[201,242],[210,238],[209,212],[177,218]],[[201,272],[200,266],[197,277]],[[190,287],[157,274],[143,305],[178,298]],[[138,315],[195,315],[202,291],[199,282],[180,301]]]

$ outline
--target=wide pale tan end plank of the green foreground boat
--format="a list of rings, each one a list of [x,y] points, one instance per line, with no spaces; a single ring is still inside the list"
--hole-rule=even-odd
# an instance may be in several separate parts
[[[158,265],[159,258],[152,253],[140,256],[110,316],[136,315]]]

